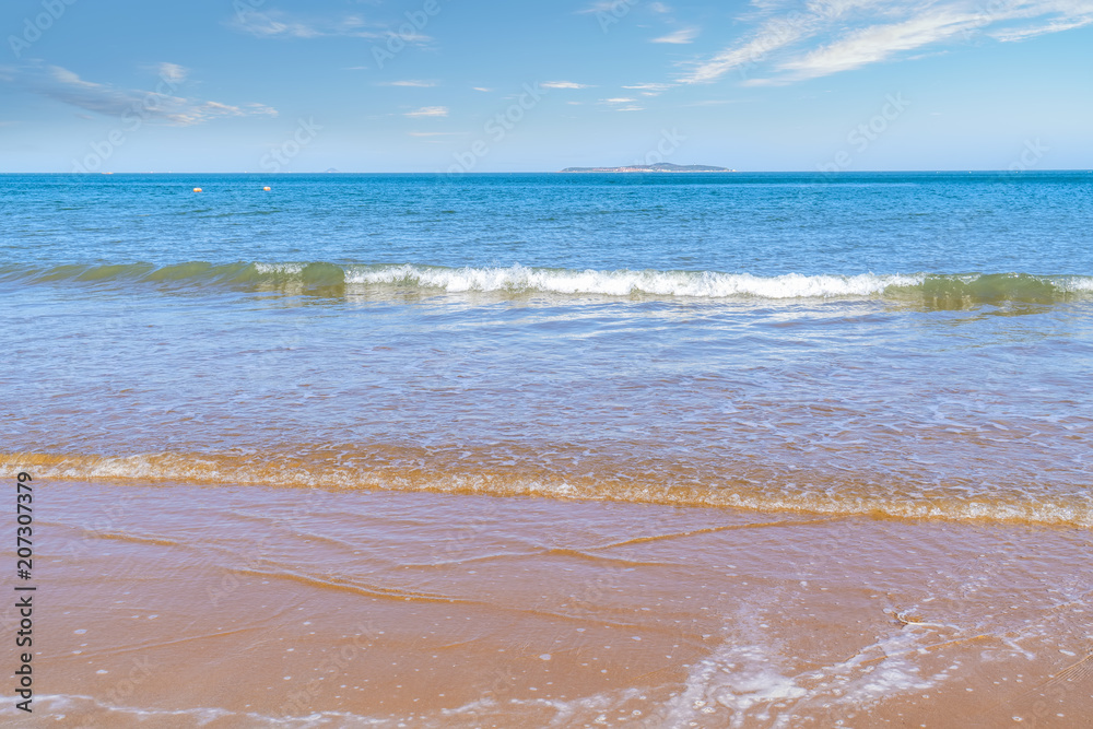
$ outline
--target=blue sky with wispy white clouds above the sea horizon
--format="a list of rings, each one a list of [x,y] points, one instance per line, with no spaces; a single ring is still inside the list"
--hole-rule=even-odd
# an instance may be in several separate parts
[[[5,0],[0,172],[1093,167],[1093,0]]]

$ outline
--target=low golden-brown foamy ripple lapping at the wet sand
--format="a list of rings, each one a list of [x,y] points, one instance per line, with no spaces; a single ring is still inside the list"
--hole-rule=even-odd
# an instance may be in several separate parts
[[[908,524],[967,526],[1025,526],[1049,529],[1091,527],[1090,504],[1073,494],[1067,498],[1024,499],[1010,496],[968,498],[942,494],[871,493],[860,474],[814,473],[810,483],[828,486],[835,495],[808,491],[778,491],[784,475],[773,468],[740,469],[738,481],[679,480],[663,485],[650,468],[647,473],[579,477],[545,475],[540,467],[490,468],[491,454],[462,448],[463,462],[446,465],[457,454],[427,454],[419,448],[390,444],[374,447],[378,458],[366,455],[338,466],[274,452],[265,460],[228,455],[160,452],[131,456],[74,456],[0,452],[0,466],[30,471],[45,479],[84,480],[89,483],[177,483],[193,487],[239,486],[308,493],[315,484],[330,493],[402,493],[486,498],[544,498],[559,504],[621,504],[668,508],[732,509],[741,514],[780,514],[799,518],[868,517]],[[477,458],[477,460],[472,459]],[[679,474],[662,472],[660,478]],[[890,484],[894,487],[895,484]],[[914,483],[912,483],[914,485]],[[564,507],[560,507],[564,508]]]

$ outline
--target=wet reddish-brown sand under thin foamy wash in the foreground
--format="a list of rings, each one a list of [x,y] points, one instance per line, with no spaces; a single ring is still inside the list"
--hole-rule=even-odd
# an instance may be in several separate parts
[[[42,726],[1093,726],[1088,530],[137,481],[35,503]]]

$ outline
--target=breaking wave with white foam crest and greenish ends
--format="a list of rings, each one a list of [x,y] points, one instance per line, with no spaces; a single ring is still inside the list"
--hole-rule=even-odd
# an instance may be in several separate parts
[[[285,294],[346,295],[413,291],[485,293],[502,296],[555,295],[704,299],[881,298],[953,307],[983,303],[1038,303],[1093,296],[1093,277],[1031,273],[785,273],[762,277],[721,271],[596,270],[313,262],[189,261],[0,267],[0,280],[33,284],[145,284],[181,289],[228,287]]]

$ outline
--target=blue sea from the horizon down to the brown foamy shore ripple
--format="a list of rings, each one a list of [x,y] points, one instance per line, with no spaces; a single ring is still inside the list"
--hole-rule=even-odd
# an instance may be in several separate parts
[[[4,175],[0,450],[1089,528],[1091,222],[1088,172]]]

